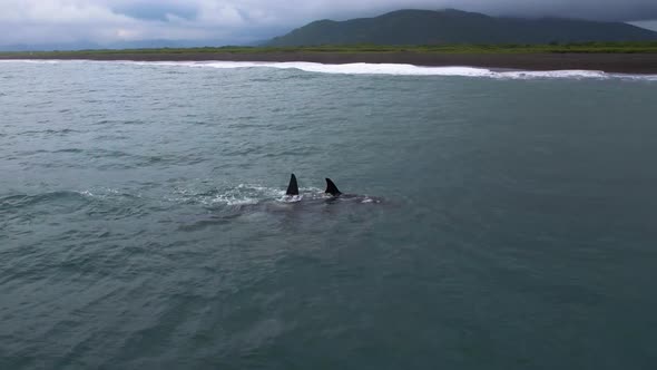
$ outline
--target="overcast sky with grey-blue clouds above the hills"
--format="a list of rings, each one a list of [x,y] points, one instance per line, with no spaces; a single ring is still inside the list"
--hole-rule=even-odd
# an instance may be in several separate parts
[[[0,45],[148,39],[249,42],[316,19],[395,9],[648,21],[657,0],[0,0]]]

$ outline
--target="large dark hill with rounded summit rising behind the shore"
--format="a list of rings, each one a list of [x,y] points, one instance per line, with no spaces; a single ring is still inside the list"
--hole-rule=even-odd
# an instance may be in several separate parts
[[[496,18],[460,10],[399,10],[375,18],[320,20],[266,46],[550,43],[657,40],[657,32],[620,22]]]

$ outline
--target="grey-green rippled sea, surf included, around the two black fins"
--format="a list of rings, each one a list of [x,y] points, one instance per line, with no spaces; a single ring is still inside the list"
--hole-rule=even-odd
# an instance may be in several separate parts
[[[655,76],[0,62],[0,369],[656,369],[656,117]]]

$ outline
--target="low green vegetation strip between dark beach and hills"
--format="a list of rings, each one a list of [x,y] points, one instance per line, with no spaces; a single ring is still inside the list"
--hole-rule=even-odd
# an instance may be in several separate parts
[[[645,42],[582,42],[550,45],[428,45],[428,46],[313,46],[313,47],[205,47],[205,48],[158,48],[158,49],[104,49],[79,51],[16,51],[0,52],[0,56],[90,56],[90,55],[158,55],[158,53],[266,53],[266,52],[421,52],[421,53],[653,53],[657,41]]]

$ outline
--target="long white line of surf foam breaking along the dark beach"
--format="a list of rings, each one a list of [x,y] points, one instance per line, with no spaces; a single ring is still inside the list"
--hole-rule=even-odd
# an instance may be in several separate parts
[[[607,74],[598,70],[548,70],[548,71],[494,71],[487,68],[474,67],[422,67],[403,64],[343,64],[323,65],[307,61],[92,61],[92,60],[0,60],[1,62],[30,62],[30,64],[65,64],[65,62],[92,62],[92,64],[129,64],[153,67],[184,67],[184,68],[276,68],[296,69],[315,74],[333,75],[388,75],[388,76],[453,76],[475,77],[493,79],[629,79],[657,81],[657,75],[627,75]]]

